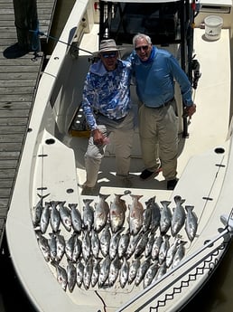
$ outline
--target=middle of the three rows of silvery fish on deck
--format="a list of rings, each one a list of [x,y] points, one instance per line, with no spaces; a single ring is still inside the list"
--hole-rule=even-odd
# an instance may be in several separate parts
[[[89,258],[109,257],[110,260],[130,258],[158,260],[159,264],[166,262],[166,267],[172,265],[175,253],[182,248],[186,241],[177,235],[172,243],[169,235],[156,235],[152,232],[139,232],[130,235],[129,232],[118,231],[111,235],[109,224],[101,233],[87,230],[83,236],[79,237],[77,232],[73,232],[68,240],[60,232],[51,232],[47,239],[40,230],[35,231],[39,247],[44,259],[59,263],[63,256],[66,260],[77,263],[79,259],[88,262]],[[184,251],[184,249],[183,249]],[[184,255],[184,254],[183,254]]]

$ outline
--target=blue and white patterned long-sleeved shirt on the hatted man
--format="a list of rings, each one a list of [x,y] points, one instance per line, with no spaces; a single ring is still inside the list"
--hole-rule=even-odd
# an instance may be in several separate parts
[[[110,119],[124,118],[131,109],[131,64],[117,60],[115,71],[107,71],[102,61],[90,66],[84,89],[82,108],[90,130],[98,128],[95,114]]]

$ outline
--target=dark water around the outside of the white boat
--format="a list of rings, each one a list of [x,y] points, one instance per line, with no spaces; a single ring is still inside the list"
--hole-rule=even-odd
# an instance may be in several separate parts
[[[52,36],[57,38],[60,36],[74,2],[74,0],[57,0],[55,21],[51,28]],[[49,41],[47,52],[51,52],[54,44],[54,40]],[[22,245],[22,251],[24,247],[26,248],[26,246]],[[4,252],[0,255],[0,268],[0,312],[35,312],[14,273],[6,246]],[[229,312],[233,310],[232,306],[233,243],[231,243],[225,258],[220,262],[218,269],[216,269],[208,283],[182,309],[182,312]]]

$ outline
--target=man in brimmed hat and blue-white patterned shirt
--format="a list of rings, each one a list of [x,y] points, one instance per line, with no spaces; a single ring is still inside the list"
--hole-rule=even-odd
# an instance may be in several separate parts
[[[130,187],[128,179],[134,135],[134,116],[130,101],[131,64],[118,59],[119,49],[112,39],[103,40],[84,83],[82,108],[91,136],[85,154],[87,179],[82,194],[91,194],[98,180],[109,134],[115,144],[116,176]]]

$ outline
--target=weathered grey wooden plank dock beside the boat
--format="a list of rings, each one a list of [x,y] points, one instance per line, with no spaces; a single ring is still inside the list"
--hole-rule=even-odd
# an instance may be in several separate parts
[[[56,0],[37,0],[42,33],[50,33]],[[42,38],[46,41],[46,36]],[[17,43],[13,0],[0,0],[0,246],[14,191],[14,180],[33,109],[44,53],[15,57]],[[23,196],[23,194],[22,194]]]

